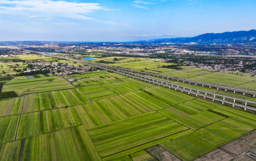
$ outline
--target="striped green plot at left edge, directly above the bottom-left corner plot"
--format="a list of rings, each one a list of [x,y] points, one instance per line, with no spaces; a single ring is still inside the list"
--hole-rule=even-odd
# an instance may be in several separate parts
[[[19,115],[15,115],[0,118],[0,144],[14,141],[19,117]]]

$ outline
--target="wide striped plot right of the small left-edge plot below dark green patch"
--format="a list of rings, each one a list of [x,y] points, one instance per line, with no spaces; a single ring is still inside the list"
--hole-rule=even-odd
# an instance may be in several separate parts
[[[24,111],[34,112],[72,105],[86,104],[89,100],[77,89],[34,93],[25,96]]]

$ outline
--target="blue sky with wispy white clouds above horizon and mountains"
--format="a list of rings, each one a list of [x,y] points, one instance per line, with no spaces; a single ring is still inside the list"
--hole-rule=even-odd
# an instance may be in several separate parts
[[[0,0],[0,41],[132,41],[256,29],[255,0]]]

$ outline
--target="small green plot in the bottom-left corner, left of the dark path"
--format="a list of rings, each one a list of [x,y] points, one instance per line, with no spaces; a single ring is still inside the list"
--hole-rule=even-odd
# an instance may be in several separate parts
[[[19,160],[21,141],[0,144],[0,160]]]

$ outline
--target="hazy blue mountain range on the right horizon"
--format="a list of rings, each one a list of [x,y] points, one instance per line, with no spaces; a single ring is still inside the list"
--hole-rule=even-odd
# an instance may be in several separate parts
[[[234,31],[225,33],[205,33],[189,38],[159,38],[154,40],[144,40],[136,43],[250,43],[256,42],[256,30]]]

